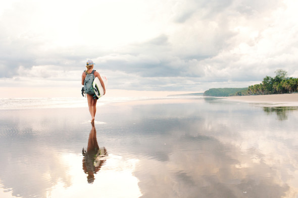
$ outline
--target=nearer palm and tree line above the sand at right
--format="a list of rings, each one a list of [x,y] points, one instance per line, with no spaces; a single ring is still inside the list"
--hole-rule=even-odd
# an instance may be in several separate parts
[[[288,78],[284,70],[276,70],[274,78],[266,76],[262,83],[238,91],[236,96],[284,94],[298,91],[298,78]]]

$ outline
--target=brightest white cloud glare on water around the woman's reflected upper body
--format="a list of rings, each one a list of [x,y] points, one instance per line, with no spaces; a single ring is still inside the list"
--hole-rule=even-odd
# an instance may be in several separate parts
[[[60,197],[131,197],[141,196],[138,187],[138,179],[133,172],[138,164],[137,159],[123,159],[121,156],[109,154],[105,166],[96,174],[92,185],[86,182],[86,176],[82,171],[81,156],[72,154],[64,155],[69,164],[69,175],[72,177],[72,185],[65,188],[62,183],[53,186],[52,198]]]

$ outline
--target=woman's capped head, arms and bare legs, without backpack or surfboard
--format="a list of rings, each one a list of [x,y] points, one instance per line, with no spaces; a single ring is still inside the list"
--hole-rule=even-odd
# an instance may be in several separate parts
[[[82,74],[82,85],[84,85],[84,81],[85,81],[85,78],[86,78],[86,75],[87,74],[91,74],[92,71],[93,71],[93,61],[92,60],[88,60],[87,61],[87,64],[86,64],[86,68],[87,70],[85,70]],[[94,78],[97,77],[98,79],[100,79],[101,81],[101,84],[104,88],[104,95],[106,94],[106,88],[105,88],[105,84],[102,80],[102,77],[100,75],[100,73],[98,72],[94,72]],[[94,122],[94,117],[95,117],[95,113],[96,113],[96,102],[97,102],[97,98],[95,97],[95,99],[93,99],[93,95],[90,95],[90,94],[86,94],[87,95],[87,100],[88,100],[88,107],[89,107],[89,112],[91,114],[91,122],[93,123]]]

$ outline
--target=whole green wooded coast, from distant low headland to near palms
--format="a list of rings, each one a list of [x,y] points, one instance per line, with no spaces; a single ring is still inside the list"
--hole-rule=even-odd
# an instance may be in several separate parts
[[[298,91],[298,79],[288,78],[284,70],[276,70],[274,78],[266,76],[262,83],[248,88],[217,88],[204,92],[204,96],[248,96],[266,94],[284,94]]]

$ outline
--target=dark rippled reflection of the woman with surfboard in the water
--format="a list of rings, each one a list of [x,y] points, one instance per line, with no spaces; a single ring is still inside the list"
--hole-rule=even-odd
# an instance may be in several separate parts
[[[106,161],[101,158],[108,155],[105,147],[98,147],[94,123],[92,123],[92,129],[89,134],[87,150],[83,148],[82,153],[84,156],[83,170],[88,174],[87,181],[88,183],[93,183],[94,173],[96,174]]]

